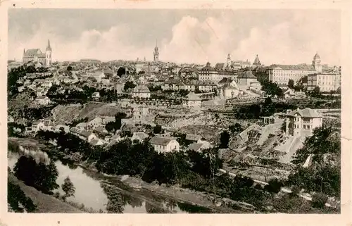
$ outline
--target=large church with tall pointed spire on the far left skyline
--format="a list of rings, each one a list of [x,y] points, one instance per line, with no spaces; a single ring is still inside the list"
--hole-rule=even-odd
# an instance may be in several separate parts
[[[50,40],[48,40],[45,53],[40,49],[27,49],[27,51],[23,49],[23,63],[33,61],[49,67],[51,65],[51,51]]]

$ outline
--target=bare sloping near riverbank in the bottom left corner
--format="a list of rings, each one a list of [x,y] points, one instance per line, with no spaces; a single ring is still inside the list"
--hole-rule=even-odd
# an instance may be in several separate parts
[[[36,213],[85,213],[53,196],[39,192],[34,187],[27,186],[12,174],[8,174],[8,181],[20,186],[25,195],[32,199],[33,203],[37,206]]]

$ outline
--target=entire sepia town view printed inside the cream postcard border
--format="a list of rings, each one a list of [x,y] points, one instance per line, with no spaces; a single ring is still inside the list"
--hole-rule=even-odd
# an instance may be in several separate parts
[[[8,214],[341,215],[341,9],[11,6]]]

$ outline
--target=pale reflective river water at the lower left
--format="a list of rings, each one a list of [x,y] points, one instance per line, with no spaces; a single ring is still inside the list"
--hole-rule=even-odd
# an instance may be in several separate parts
[[[8,167],[11,170],[18,158],[20,153],[9,151]],[[148,191],[126,187],[116,179],[85,170],[80,166],[64,165],[61,161],[56,161],[55,165],[58,170],[56,183],[63,184],[63,180],[69,176],[75,186],[75,196],[69,197],[68,201],[84,204],[86,208],[92,208],[95,211],[100,209],[106,211],[109,199],[103,187],[108,184],[109,189],[118,192],[122,197],[122,213],[211,213],[208,208],[167,200]],[[54,192],[64,194],[61,187]]]

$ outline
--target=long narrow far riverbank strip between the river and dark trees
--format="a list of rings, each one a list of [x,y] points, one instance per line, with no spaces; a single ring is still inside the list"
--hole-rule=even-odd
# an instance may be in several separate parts
[[[26,144],[27,139],[12,139],[13,142],[18,144]],[[40,141],[36,142],[42,143]],[[24,142],[24,143],[23,143]],[[240,203],[232,201],[230,199],[222,199],[220,196],[214,194],[206,194],[205,192],[196,192],[190,189],[184,189],[178,186],[166,186],[165,184],[146,183],[142,179],[137,177],[118,176],[118,175],[106,175],[98,172],[94,167],[94,163],[88,164],[84,162],[75,162],[68,159],[70,156],[56,156],[54,149],[47,149],[48,144],[45,144],[46,148],[42,148],[43,151],[50,151],[49,156],[56,157],[62,161],[70,162],[70,164],[78,165],[84,170],[87,170],[92,177],[104,180],[108,184],[113,185],[113,189],[119,189],[120,192],[128,194],[130,196],[136,196],[140,199],[147,199],[149,203],[153,203],[153,199],[163,197],[165,199],[171,199],[175,202],[180,202],[195,206],[196,208],[202,209],[205,212],[210,211],[211,213],[253,213],[250,206],[246,203]],[[49,144],[51,146],[51,144]],[[54,148],[54,146],[53,146]],[[67,158],[68,157],[68,158]],[[122,187],[122,189],[120,189]],[[207,208],[208,210],[205,210]]]

